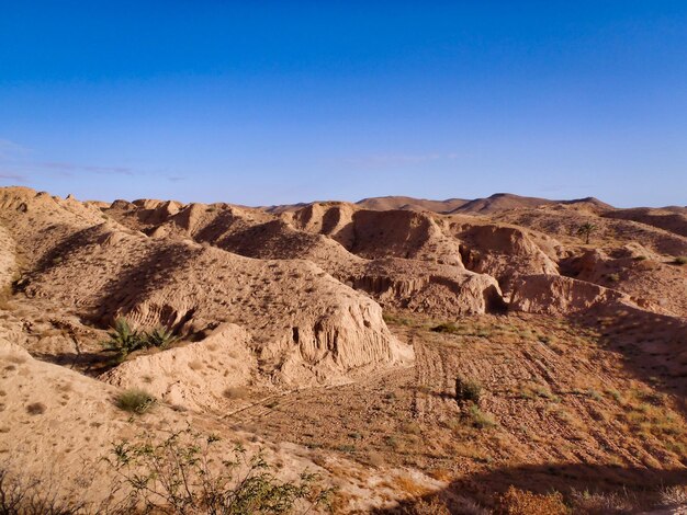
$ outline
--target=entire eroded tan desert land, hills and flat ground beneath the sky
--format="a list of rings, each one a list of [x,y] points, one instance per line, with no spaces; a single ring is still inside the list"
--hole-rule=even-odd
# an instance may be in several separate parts
[[[0,286],[0,513],[687,505],[687,208],[5,187]]]

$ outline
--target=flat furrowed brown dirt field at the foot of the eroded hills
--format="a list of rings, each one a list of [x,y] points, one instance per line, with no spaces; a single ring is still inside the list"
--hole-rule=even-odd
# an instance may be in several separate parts
[[[519,469],[530,470],[529,479],[516,474],[529,490],[629,488],[647,505],[662,484],[686,480],[687,434],[674,396],[652,386],[657,378],[632,377],[599,332],[525,314],[466,318],[442,330],[407,313],[386,321],[413,343],[414,366],[293,391],[224,419],[301,444],[323,464],[335,453],[419,469],[485,505]],[[481,386],[478,402],[457,401],[459,376]]]

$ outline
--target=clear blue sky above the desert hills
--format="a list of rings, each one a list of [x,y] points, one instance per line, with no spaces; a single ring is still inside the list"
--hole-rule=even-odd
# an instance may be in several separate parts
[[[0,0],[0,185],[687,204],[687,1]]]

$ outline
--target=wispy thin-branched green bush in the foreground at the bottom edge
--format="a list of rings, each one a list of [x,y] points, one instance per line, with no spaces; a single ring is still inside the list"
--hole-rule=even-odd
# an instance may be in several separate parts
[[[333,490],[316,474],[303,472],[296,481],[280,481],[261,454],[248,457],[237,445],[233,458],[215,459],[216,436],[191,430],[160,443],[115,443],[106,461],[129,489],[128,506],[145,513],[284,514],[299,504],[305,510],[326,506]]]

